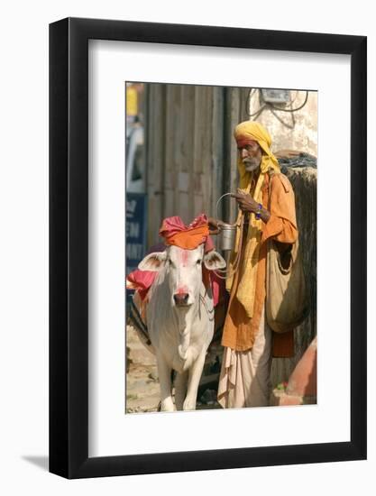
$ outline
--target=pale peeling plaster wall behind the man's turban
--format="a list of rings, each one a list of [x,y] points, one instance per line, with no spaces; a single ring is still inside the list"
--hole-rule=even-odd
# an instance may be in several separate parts
[[[306,91],[290,91],[294,100],[292,105],[281,108],[297,108],[303,105]],[[291,149],[311,153],[317,156],[317,92],[308,91],[307,104],[294,113],[275,110],[271,106],[265,106],[261,110],[263,102],[259,90],[252,90],[249,111],[252,120],[264,125],[272,137],[272,151]]]

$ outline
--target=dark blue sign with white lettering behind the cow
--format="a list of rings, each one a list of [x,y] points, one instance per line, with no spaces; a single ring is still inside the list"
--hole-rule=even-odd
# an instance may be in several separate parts
[[[126,194],[125,217],[125,256],[126,275],[137,269],[146,252],[146,214],[145,193]]]

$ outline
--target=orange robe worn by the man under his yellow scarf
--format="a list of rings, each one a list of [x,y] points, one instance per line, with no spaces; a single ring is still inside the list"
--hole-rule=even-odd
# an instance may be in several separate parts
[[[283,174],[273,174],[270,179],[269,175],[265,174],[264,184],[262,185],[262,206],[269,210],[270,180],[271,218],[267,224],[263,225],[262,228],[253,317],[247,316],[243,305],[236,298],[236,291],[239,282],[239,274],[236,272],[234,274],[228,311],[225,318],[222,345],[236,351],[251,349],[255,335],[259,330],[261,312],[266,298],[266,241],[273,238],[280,243],[295,243],[298,239],[298,228],[295,214],[295,196],[289,179],[286,176]],[[288,357],[294,355],[293,333],[294,331],[284,334],[277,334],[273,332],[273,356]]]

